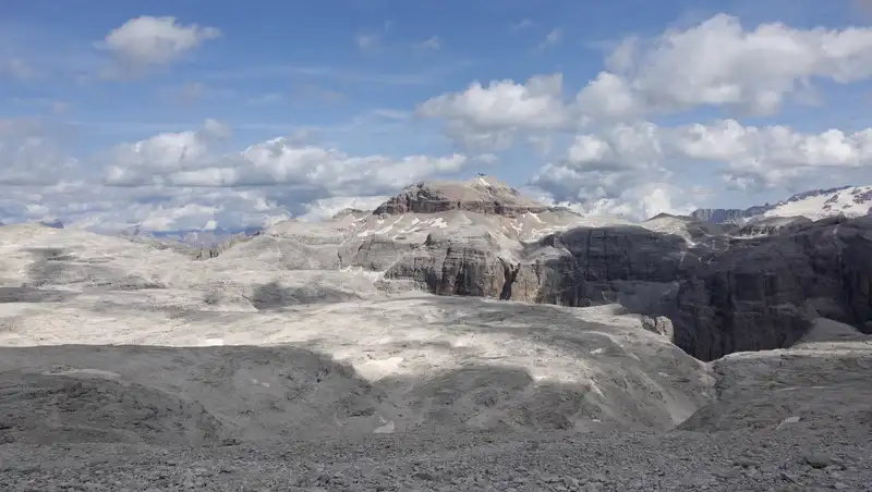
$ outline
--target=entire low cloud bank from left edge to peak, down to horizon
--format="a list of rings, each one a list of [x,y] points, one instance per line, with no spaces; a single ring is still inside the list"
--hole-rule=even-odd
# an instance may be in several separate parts
[[[25,124],[27,123],[27,124]],[[118,231],[259,225],[291,216],[374,208],[411,182],[453,174],[494,156],[352,156],[294,138],[219,151],[230,130],[215,120],[78,160],[37,121],[0,121],[0,221],[60,218]],[[220,145],[219,145],[220,144]]]

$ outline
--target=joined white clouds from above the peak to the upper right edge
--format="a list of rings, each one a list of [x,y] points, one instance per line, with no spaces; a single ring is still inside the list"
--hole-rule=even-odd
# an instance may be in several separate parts
[[[492,148],[511,146],[520,131],[573,131],[706,106],[768,115],[786,102],[813,100],[815,81],[870,78],[872,27],[749,29],[718,14],[651,39],[627,38],[605,62],[607,70],[571,101],[564,100],[560,74],[540,75],[523,84],[476,82],[427,100],[419,114],[445,120],[462,146]]]

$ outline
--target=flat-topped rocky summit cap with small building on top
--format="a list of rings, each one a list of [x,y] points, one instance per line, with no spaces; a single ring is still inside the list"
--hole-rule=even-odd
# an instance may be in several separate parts
[[[524,197],[511,186],[484,174],[469,181],[421,182],[403,188],[373,213],[437,213],[449,210],[516,217],[548,210],[546,205]]]

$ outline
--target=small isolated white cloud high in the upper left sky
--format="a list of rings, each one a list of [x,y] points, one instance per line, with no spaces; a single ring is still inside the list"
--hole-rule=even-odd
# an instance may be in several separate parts
[[[217,27],[183,25],[175,17],[143,15],[112,29],[98,46],[125,67],[167,65],[221,36]]]

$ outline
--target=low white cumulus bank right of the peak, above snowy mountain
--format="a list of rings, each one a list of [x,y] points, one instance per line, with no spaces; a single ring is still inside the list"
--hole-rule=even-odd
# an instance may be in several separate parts
[[[668,182],[698,167],[707,167],[735,188],[789,188],[821,173],[872,167],[872,128],[803,134],[783,125],[743,126],[736,120],[678,127],[618,124],[579,135],[530,184],[557,201],[598,207],[643,197],[638,190],[649,189],[650,183]],[[661,193],[661,204],[665,196]]]

